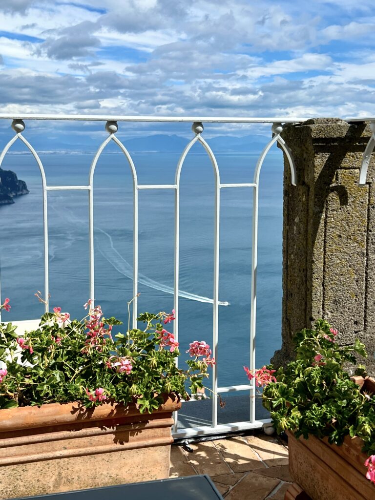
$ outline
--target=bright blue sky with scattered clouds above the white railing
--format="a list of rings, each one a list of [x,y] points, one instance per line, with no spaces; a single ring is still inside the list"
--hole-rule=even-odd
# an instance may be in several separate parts
[[[0,0],[0,112],[375,115],[374,49],[371,2]]]

